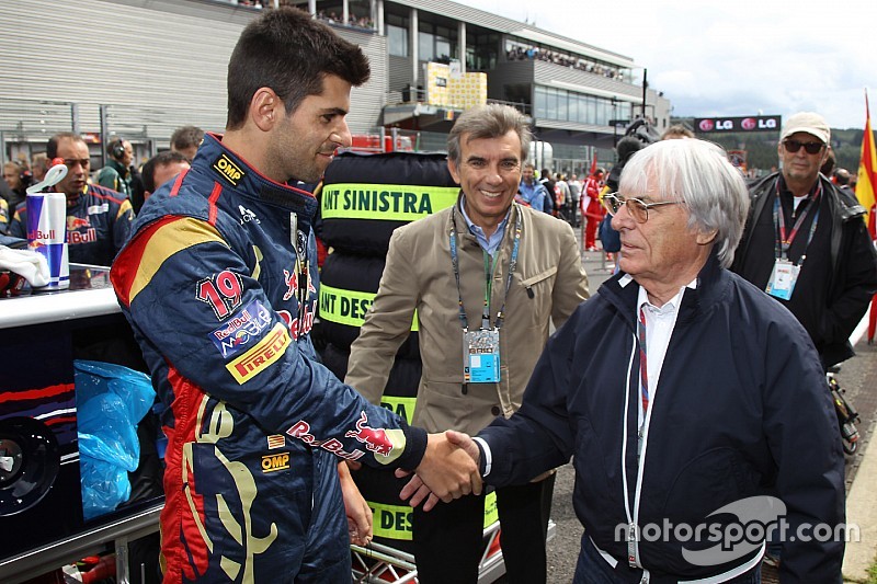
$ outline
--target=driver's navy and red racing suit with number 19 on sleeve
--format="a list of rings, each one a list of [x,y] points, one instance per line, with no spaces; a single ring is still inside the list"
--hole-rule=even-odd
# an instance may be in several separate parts
[[[167,406],[166,582],[350,580],[338,458],[415,468],[425,433],[317,363],[317,202],[207,135],[112,282]]]

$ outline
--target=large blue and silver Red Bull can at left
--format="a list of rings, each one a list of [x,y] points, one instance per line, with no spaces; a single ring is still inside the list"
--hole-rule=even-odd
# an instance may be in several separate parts
[[[48,263],[49,283],[43,290],[70,287],[67,257],[67,197],[62,193],[27,194],[27,248]]]

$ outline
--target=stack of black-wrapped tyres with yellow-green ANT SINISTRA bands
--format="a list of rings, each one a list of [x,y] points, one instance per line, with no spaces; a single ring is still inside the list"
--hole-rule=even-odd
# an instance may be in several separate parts
[[[339,379],[344,379],[350,346],[380,284],[392,231],[449,207],[458,192],[444,153],[348,152],[327,169],[316,192],[320,202],[316,229],[331,252],[320,273],[315,334],[323,364]],[[420,375],[415,319],[380,400],[409,423]],[[353,477],[374,512],[375,541],[410,551],[411,507],[399,500],[407,479],[366,466]]]

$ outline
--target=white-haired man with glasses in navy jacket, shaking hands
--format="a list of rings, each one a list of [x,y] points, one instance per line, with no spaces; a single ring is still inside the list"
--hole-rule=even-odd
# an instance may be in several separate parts
[[[493,485],[572,456],[574,584],[758,583],[774,528],[782,582],[840,583],[838,421],[807,332],[727,270],[749,208],[740,172],[713,144],[664,140],[605,204],[622,272],[548,342],[521,409],[452,442]]]

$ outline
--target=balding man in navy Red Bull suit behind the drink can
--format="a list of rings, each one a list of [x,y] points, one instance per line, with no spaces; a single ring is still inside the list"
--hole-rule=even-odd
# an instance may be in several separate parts
[[[67,176],[55,191],[67,196],[67,240],[71,263],[110,265],[130,233],[134,211],[121,193],[89,184],[89,147],[78,134],[65,131],[48,140],[46,156],[60,158]],[[9,234],[25,239],[27,203],[19,205]]]

